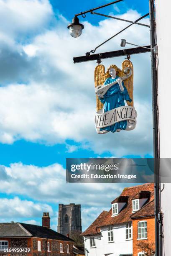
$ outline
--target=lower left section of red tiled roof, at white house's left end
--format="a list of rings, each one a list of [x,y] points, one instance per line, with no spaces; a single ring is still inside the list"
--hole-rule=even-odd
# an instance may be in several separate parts
[[[97,219],[94,220],[94,222],[81,234],[81,236],[88,236],[100,233],[100,228],[97,227],[103,224],[103,221],[105,220],[107,214],[107,211],[102,211]]]

